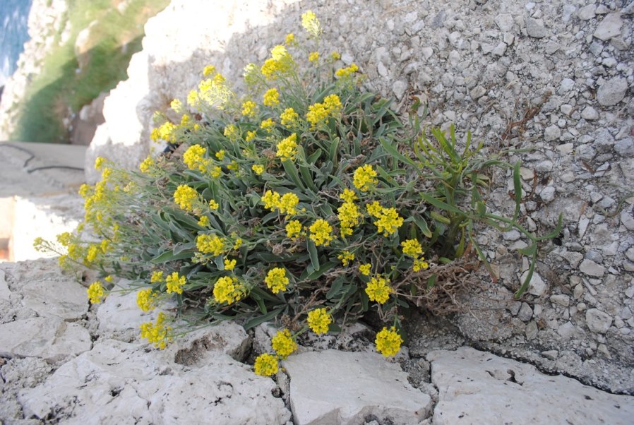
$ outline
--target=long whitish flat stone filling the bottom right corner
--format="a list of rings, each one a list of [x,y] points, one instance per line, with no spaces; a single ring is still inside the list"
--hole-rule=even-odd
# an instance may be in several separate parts
[[[634,414],[633,397],[612,395],[561,375],[544,375],[529,364],[470,347],[431,352],[427,360],[431,382],[438,388],[434,425],[626,425]]]

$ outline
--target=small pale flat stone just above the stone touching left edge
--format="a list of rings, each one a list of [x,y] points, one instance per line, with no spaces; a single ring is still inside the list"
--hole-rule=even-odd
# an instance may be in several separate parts
[[[76,321],[88,313],[86,288],[73,280],[34,280],[24,285],[23,304],[39,316]]]

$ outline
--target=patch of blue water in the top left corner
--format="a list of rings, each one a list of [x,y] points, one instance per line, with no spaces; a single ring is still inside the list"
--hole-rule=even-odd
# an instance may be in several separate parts
[[[16,71],[18,57],[29,40],[32,0],[0,0],[0,86]]]

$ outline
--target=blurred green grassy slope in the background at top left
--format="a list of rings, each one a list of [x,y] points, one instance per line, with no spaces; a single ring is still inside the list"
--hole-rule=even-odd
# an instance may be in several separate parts
[[[126,78],[131,56],[140,51],[143,25],[169,0],[131,0],[123,13],[118,0],[68,0],[66,19],[71,36],[59,45],[61,34],[44,59],[42,72],[30,83],[21,104],[13,140],[68,143],[63,119],[69,110],[78,112],[100,92],[110,90]],[[96,21],[85,42],[89,47],[80,58],[75,53],[77,35]],[[61,25],[64,28],[66,25]]]

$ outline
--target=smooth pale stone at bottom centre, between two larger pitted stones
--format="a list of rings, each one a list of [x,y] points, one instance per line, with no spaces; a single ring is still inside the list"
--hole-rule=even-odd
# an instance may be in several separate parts
[[[417,424],[431,398],[407,383],[400,366],[370,352],[306,352],[284,361],[296,424]],[[325,390],[325,389],[328,390]]]

